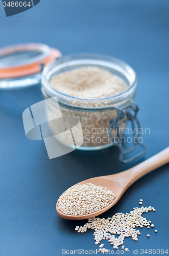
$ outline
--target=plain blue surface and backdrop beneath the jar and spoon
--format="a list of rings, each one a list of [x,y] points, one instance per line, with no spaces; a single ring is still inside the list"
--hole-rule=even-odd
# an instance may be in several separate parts
[[[0,255],[62,255],[62,249],[96,249],[92,230],[77,233],[76,225],[61,219],[55,203],[65,189],[90,177],[121,172],[168,146],[169,119],[169,2],[168,0],[41,1],[16,16],[5,17],[0,5],[0,47],[19,42],[42,42],[63,53],[96,52],[128,62],[138,76],[135,102],[139,119],[150,128],[144,135],[147,153],[123,165],[116,147],[97,152],[74,151],[49,160],[43,141],[25,137],[22,112],[42,100],[40,86],[0,92]],[[145,217],[158,229],[143,228],[137,242],[126,238],[130,249],[169,246],[168,179],[165,165],[133,184],[104,216],[154,206]],[[150,238],[146,234],[150,233]],[[112,248],[106,241],[106,248]],[[169,248],[168,248],[169,252]],[[146,254],[146,253],[145,253]],[[167,255],[164,253],[164,255]]]

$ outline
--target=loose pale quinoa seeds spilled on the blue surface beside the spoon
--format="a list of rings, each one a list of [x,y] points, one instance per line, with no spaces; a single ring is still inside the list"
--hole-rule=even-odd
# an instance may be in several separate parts
[[[102,240],[108,240],[110,245],[113,246],[114,249],[118,249],[119,246],[122,246],[124,249],[124,239],[127,237],[131,237],[133,240],[138,241],[138,235],[140,235],[140,231],[136,227],[144,227],[147,225],[150,228],[151,221],[148,221],[146,218],[142,217],[142,214],[146,211],[151,211],[152,207],[135,207],[132,211],[126,214],[122,212],[118,212],[112,217],[105,218],[91,218],[88,220],[88,223],[85,224],[82,228],[91,228],[94,229],[94,240],[95,244],[99,244]],[[145,225],[146,224],[146,225]],[[154,225],[154,224],[152,224]],[[76,226],[77,227],[77,226]],[[80,229],[80,228],[79,228]],[[78,229],[78,230],[79,230]],[[78,232],[78,231],[77,231]],[[157,232],[157,230],[155,230]],[[118,235],[118,238],[115,237],[115,234]],[[150,237],[147,234],[147,237]],[[105,252],[105,248],[103,248],[104,244],[101,244],[100,251]],[[128,248],[125,248],[128,250]]]

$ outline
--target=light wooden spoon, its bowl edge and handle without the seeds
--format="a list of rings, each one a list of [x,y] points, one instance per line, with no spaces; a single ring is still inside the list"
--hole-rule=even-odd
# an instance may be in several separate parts
[[[111,208],[113,205],[115,205],[119,201],[121,196],[124,194],[124,192],[127,190],[127,188],[131,186],[136,180],[138,180],[144,175],[150,173],[152,170],[157,169],[158,167],[166,163],[169,163],[169,147],[165,148],[165,150],[147,159],[146,161],[128,170],[125,170],[124,172],[81,181],[77,184],[86,184],[91,182],[95,185],[101,185],[103,187],[107,187],[116,195],[116,198],[108,206],[102,208],[101,210],[95,211],[92,214],[81,215],[81,216],[66,215],[58,209],[58,202],[56,206],[57,212],[60,217],[67,220],[83,220],[83,219],[89,219],[89,218],[98,216],[102,214],[104,211]]]

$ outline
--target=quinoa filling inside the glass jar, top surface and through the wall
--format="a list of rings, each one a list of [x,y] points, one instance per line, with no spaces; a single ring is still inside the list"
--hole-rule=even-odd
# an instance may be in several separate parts
[[[115,96],[127,89],[127,83],[122,78],[97,67],[79,68],[69,72],[63,72],[52,78],[50,84],[61,93],[88,99]],[[108,99],[101,101],[70,98],[68,104],[72,106],[82,106],[83,108],[100,108],[110,103]],[[118,103],[112,103],[111,105],[116,106],[117,104]],[[60,134],[60,142],[72,145],[72,136],[63,133],[66,131],[64,130],[66,129],[65,125],[68,124],[69,127],[74,127],[80,119],[80,129],[82,128],[84,138],[82,146],[100,146],[110,143],[108,133],[109,123],[112,118],[117,117],[117,110],[100,112],[77,111],[72,108],[65,108],[61,105],[58,112],[57,107],[49,103],[47,111],[49,120],[55,119],[56,113],[60,113],[60,111],[62,112],[64,123],[60,120],[61,125],[58,125],[58,122],[57,125],[54,123],[49,124],[50,129],[54,133]],[[122,129],[120,131],[123,131],[125,127],[126,122],[124,122],[123,119],[119,126],[119,128]],[[79,143],[81,142],[80,129],[76,126],[73,132],[74,137]],[[93,131],[96,131],[96,133]],[[114,134],[116,136],[116,131]]]

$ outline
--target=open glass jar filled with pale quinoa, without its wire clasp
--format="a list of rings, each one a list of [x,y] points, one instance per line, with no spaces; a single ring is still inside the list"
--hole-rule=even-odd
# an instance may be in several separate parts
[[[127,63],[104,55],[69,55],[51,63],[42,73],[43,96],[45,99],[57,96],[65,130],[80,120],[83,133],[80,150],[97,150],[113,144],[110,123],[119,121],[119,110],[124,114],[131,106],[136,84],[136,74]],[[49,119],[57,113],[55,98],[47,105]],[[119,131],[124,131],[126,114],[118,125]],[[63,132],[62,125],[49,126],[53,134]],[[78,140],[78,129],[74,132]],[[117,136],[116,131],[112,134]],[[61,142],[71,146],[66,137],[62,136]]]

